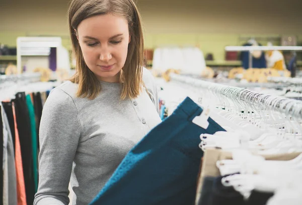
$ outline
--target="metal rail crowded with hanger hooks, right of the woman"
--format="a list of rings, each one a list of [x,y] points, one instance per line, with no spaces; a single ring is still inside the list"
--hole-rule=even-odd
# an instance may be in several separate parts
[[[177,74],[170,74],[170,79],[172,81],[185,83],[186,85],[205,89],[215,95],[251,106],[257,110],[273,110],[296,120],[302,119],[302,101],[299,100],[271,96],[243,88],[211,83]]]

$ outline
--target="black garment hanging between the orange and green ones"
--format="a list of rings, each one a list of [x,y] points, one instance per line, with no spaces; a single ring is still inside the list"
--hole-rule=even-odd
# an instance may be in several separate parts
[[[17,93],[16,99],[13,101],[15,103],[17,127],[21,145],[26,201],[27,204],[33,204],[35,185],[33,175],[32,135],[25,93]]]

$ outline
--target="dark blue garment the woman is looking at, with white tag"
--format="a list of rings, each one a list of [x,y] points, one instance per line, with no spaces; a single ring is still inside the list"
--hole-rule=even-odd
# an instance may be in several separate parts
[[[126,155],[91,204],[193,204],[199,135],[224,130],[211,118],[207,129],[194,124],[201,112],[187,97]]]

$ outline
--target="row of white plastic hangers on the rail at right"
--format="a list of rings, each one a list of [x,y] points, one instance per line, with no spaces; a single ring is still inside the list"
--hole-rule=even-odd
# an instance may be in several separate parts
[[[272,192],[268,205],[301,204],[302,154],[289,161],[268,161],[263,155],[302,153],[302,102],[237,87],[219,85],[172,74],[171,82],[195,92],[204,111],[195,123],[206,128],[211,117],[226,131],[200,135],[203,151],[219,148],[233,160],[216,167],[221,183],[244,198],[253,190]],[[194,122],[193,120],[193,122]],[[257,155],[255,155],[257,154]]]

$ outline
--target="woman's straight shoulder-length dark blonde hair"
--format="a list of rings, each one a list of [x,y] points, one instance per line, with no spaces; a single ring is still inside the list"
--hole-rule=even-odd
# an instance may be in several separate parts
[[[120,74],[123,83],[121,99],[136,98],[144,86],[142,82],[143,67],[143,32],[141,17],[132,0],[72,0],[68,9],[69,32],[72,52],[76,59],[76,72],[70,81],[79,84],[77,96],[95,99],[101,92],[101,84],[84,61],[77,38],[79,24],[90,17],[113,14],[124,17],[128,22],[131,41],[127,58]]]

